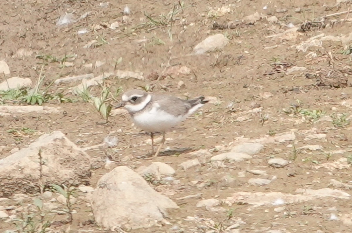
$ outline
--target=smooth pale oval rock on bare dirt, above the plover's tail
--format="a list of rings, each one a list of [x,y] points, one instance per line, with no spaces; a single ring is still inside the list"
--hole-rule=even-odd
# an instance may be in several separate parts
[[[229,42],[228,38],[222,34],[208,36],[193,48],[195,54],[203,54],[215,49],[222,49]]]

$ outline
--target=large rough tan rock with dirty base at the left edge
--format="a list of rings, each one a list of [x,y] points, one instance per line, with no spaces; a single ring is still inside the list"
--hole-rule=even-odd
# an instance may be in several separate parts
[[[61,131],[54,131],[0,160],[0,197],[33,194],[39,185],[89,184],[89,177],[89,155]]]

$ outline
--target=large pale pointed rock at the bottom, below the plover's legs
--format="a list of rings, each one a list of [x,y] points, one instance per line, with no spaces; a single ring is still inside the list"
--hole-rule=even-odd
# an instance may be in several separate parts
[[[99,179],[92,208],[96,223],[114,230],[153,226],[163,220],[166,209],[178,206],[151,188],[136,172],[120,166]]]

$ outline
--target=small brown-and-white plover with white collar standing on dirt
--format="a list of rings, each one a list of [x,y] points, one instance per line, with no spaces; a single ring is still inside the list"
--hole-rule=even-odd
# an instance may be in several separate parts
[[[116,108],[124,107],[130,113],[134,124],[151,133],[154,153],[154,133],[161,132],[163,139],[156,153],[157,157],[165,142],[165,133],[209,102],[204,97],[183,100],[167,94],[147,93],[130,90],[122,94],[122,101]]]

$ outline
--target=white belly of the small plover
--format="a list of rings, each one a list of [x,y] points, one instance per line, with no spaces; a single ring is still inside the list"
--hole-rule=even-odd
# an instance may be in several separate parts
[[[134,124],[149,133],[165,132],[183,121],[184,117],[174,116],[158,108],[133,116]]]

